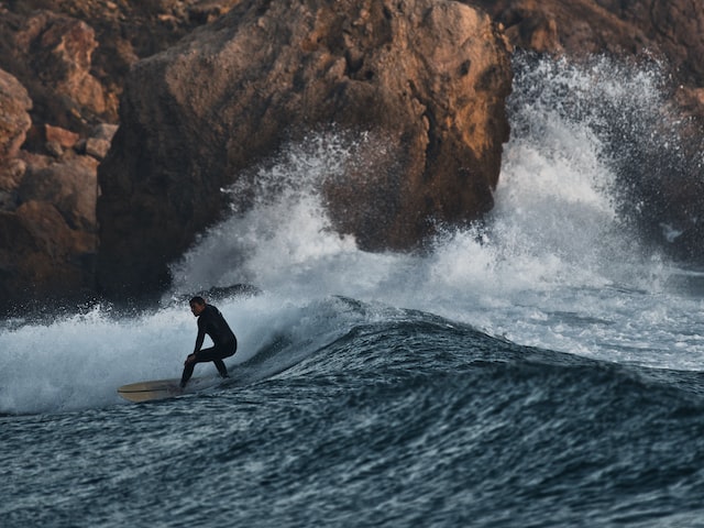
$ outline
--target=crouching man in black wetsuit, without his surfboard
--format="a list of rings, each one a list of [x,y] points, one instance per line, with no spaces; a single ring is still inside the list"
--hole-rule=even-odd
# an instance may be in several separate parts
[[[198,337],[194,353],[186,358],[184,363],[184,374],[180,377],[182,388],[186,386],[188,380],[194,374],[197,363],[212,361],[222,377],[228,377],[228,367],[222,362],[230,358],[238,350],[238,340],[230,329],[230,326],[215,306],[206,304],[202,297],[190,299],[190,311],[198,318]],[[215,346],[200,350],[206,339],[206,333],[212,339]]]

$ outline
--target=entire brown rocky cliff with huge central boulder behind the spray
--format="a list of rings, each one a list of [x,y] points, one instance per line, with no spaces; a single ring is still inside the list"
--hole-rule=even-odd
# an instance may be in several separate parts
[[[632,204],[646,206],[634,209],[644,230],[656,240],[662,224],[673,227],[682,234],[666,245],[704,262],[700,8],[696,0],[2,1],[0,295],[6,305],[92,295],[97,277],[113,294],[164,285],[166,263],[227,207],[221,186],[284,136],[333,120],[383,131],[394,152],[393,166],[370,177],[351,170],[327,189],[341,232],[369,249],[402,249],[433,220],[477,218],[492,207],[507,133],[504,41],[578,61],[608,53],[661,62],[672,79],[668,112],[684,112],[686,163],[620,169],[637,191]],[[644,153],[650,160],[647,145]]]

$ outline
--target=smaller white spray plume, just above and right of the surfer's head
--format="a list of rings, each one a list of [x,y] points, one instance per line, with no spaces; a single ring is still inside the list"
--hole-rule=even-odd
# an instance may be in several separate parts
[[[242,175],[227,189],[231,217],[172,266],[173,290],[311,284],[316,263],[354,252],[354,240],[333,231],[322,198],[322,186],[341,177],[353,150],[348,135],[312,134]]]

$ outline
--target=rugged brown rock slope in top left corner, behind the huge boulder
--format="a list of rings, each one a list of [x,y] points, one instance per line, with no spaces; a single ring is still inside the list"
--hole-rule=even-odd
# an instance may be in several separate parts
[[[2,2],[0,68],[28,89],[34,124],[86,134],[99,122],[117,123],[122,84],[132,64],[239,1]]]

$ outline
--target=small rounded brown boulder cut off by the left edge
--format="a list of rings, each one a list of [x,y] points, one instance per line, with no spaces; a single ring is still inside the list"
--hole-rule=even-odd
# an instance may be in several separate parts
[[[32,120],[26,89],[12,75],[0,69],[0,164],[16,156]]]

